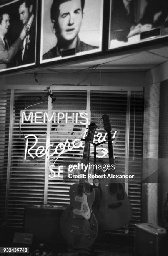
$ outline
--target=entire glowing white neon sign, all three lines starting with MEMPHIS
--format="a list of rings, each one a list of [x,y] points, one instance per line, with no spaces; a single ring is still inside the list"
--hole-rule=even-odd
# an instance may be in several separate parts
[[[52,112],[52,114],[49,116],[48,112],[40,112],[40,111],[27,111],[22,110],[20,112],[20,123],[25,123],[25,121],[35,124],[43,124],[47,122],[51,123],[57,123],[61,124],[81,124],[81,125],[87,125],[88,120],[88,113],[85,112]],[[87,130],[83,133],[83,139],[85,138],[87,134]],[[112,139],[115,139],[115,136],[117,134],[117,131],[114,132]],[[97,141],[98,143],[101,143],[103,141],[106,141],[107,133],[104,135],[100,132],[95,133],[93,142]],[[24,160],[27,159],[27,157],[31,157],[32,159],[36,158],[43,158],[43,157],[54,157],[54,162],[52,165],[50,165],[49,169],[51,174],[53,174],[55,171],[53,168],[56,168],[55,163],[62,156],[63,154],[73,151],[74,149],[81,149],[84,148],[85,142],[82,141],[80,138],[76,138],[72,140],[68,140],[68,138],[65,140],[65,142],[60,142],[55,144],[50,144],[49,146],[45,147],[40,145],[38,141],[38,137],[34,134],[29,134],[24,137],[26,145],[25,145],[25,155]],[[40,145],[40,146],[38,146]],[[52,149],[52,153],[48,154],[49,150]],[[92,154],[93,151],[90,151],[90,154]],[[97,158],[103,158],[108,155],[108,149],[104,147],[98,147],[97,148]],[[59,177],[60,173],[63,171],[61,170],[63,166],[58,166],[58,172]],[[51,176],[49,175],[51,178]],[[55,177],[53,175],[52,177]]]

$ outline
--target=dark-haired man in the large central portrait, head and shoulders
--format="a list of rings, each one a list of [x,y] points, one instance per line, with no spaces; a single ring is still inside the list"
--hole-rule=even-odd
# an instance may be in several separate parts
[[[62,52],[75,49],[75,53],[96,49],[96,46],[80,41],[78,36],[83,20],[85,0],[53,0],[51,5],[52,32],[57,44],[43,55],[43,59],[62,56]]]

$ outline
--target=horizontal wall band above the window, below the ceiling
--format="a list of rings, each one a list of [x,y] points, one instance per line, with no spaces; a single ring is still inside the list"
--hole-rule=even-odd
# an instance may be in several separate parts
[[[39,85],[60,84],[64,85],[93,85],[93,86],[130,86],[130,87],[143,87],[145,84],[145,72],[114,72],[103,73],[94,72],[88,79],[85,78],[90,74],[90,71],[85,73],[41,73],[36,77]],[[85,80],[85,81],[84,81]],[[83,81],[83,82],[82,82]],[[0,77],[0,87],[9,85],[22,85],[24,87],[30,85],[37,85],[35,82],[34,73],[30,74],[15,74]]]

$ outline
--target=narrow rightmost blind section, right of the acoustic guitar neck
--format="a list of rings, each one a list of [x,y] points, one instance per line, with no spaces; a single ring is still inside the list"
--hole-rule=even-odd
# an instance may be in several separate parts
[[[143,92],[131,92],[129,174],[135,175],[129,182],[128,195],[132,205],[129,232],[134,233],[135,223],[141,221],[141,175],[143,148]],[[135,183],[136,182],[136,183]]]

